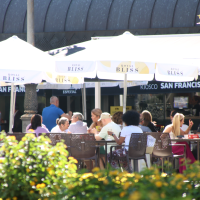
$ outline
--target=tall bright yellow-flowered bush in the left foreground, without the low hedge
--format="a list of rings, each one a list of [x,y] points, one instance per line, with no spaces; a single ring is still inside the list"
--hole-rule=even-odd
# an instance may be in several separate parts
[[[15,136],[1,134],[0,197],[7,200],[57,199],[68,174],[77,162],[67,159],[64,143],[51,146],[50,139],[26,134],[18,143]]]

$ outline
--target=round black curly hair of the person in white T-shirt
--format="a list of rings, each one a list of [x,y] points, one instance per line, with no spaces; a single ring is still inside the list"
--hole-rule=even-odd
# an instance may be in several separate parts
[[[138,126],[140,121],[140,114],[134,110],[129,110],[123,114],[122,120],[127,126]]]

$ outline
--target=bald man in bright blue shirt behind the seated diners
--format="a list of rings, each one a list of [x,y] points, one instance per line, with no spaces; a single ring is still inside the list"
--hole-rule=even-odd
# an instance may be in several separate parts
[[[65,114],[59,107],[59,99],[56,96],[50,98],[50,106],[46,107],[42,111],[43,124],[51,131],[53,127],[56,126],[56,119],[59,117],[67,117],[71,119],[70,114]]]

